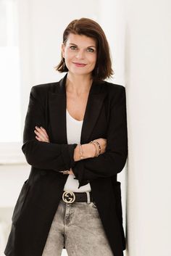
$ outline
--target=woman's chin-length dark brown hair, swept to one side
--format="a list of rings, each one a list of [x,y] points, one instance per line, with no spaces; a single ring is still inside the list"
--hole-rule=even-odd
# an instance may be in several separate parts
[[[94,20],[81,18],[80,20],[72,20],[63,33],[63,44],[66,43],[70,33],[84,35],[95,39],[97,44],[97,60],[92,75],[94,80],[104,80],[111,77],[114,72],[112,70],[112,62],[109,53],[109,44],[101,26]],[[64,64],[62,57],[59,65],[55,67],[60,73],[67,72],[68,69]]]

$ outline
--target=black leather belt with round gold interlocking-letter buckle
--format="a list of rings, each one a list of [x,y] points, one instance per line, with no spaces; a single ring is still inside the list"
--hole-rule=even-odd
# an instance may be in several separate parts
[[[62,200],[70,204],[72,202],[93,202],[93,197],[91,192],[63,191]]]

